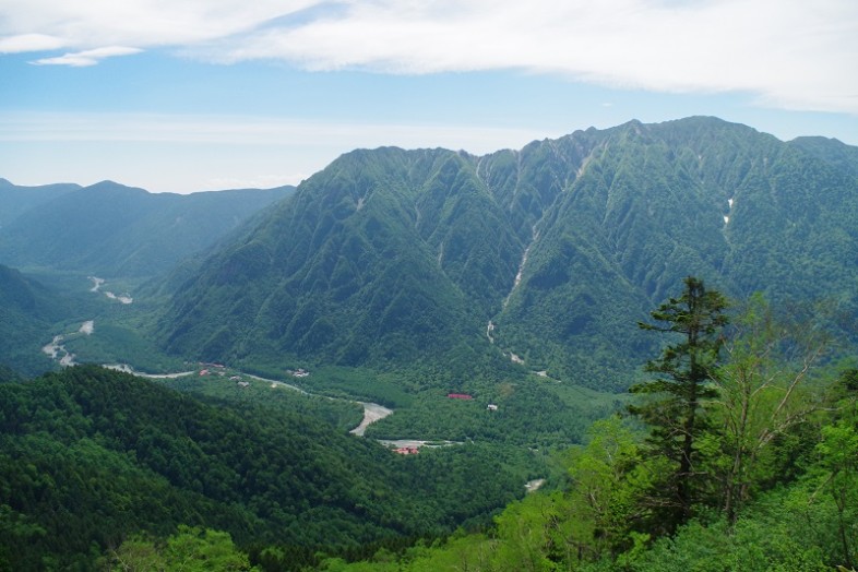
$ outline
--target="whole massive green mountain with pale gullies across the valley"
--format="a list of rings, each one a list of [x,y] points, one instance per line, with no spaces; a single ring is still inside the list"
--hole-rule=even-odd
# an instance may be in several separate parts
[[[687,275],[855,313],[854,150],[715,118],[476,157],[346,154],[178,288],[158,332],[210,359],[467,371],[622,389],[634,325]]]

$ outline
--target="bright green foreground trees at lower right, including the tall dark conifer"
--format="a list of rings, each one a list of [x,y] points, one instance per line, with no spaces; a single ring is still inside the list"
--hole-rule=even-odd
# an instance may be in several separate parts
[[[858,563],[858,369],[806,315],[686,281],[629,413],[559,455],[565,480],[458,533],[336,571],[823,571]]]

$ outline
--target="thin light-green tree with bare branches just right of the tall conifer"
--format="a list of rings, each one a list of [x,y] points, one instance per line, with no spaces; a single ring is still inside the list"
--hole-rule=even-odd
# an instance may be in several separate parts
[[[790,474],[786,464],[799,446],[789,436],[795,439],[796,428],[820,406],[813,378],[830,345],[824,329],[776,317],[762,295],[732,319],[725,362],[712,378],[717,391],[708,404],[712,424],[698,442],[729,521],[758,487]]]

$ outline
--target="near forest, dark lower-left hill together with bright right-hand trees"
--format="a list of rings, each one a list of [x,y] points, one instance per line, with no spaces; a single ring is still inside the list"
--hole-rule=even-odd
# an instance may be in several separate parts
[[[858,368],[838,331],[683,286],[639,324],[664,344],[625,413],[555,448],[562,476],[525,498],[545,458],[514,441],[398,456],[345,434],[345,402],[291,390],[7,371],[0,568],[853,569]]]

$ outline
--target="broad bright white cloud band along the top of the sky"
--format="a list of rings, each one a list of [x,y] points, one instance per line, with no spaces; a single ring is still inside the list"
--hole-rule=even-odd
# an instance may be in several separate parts
[[[854,0],[11,3],[13,16],[0,19],[0,47],[17,44],[20,51],[40,37],[78,49],[38,63],[94,64],[99,53],[167,48],[207,61],[282,60],[307,70],[520,70],[653,92],[742,92],[772,107],[858,114]]]

